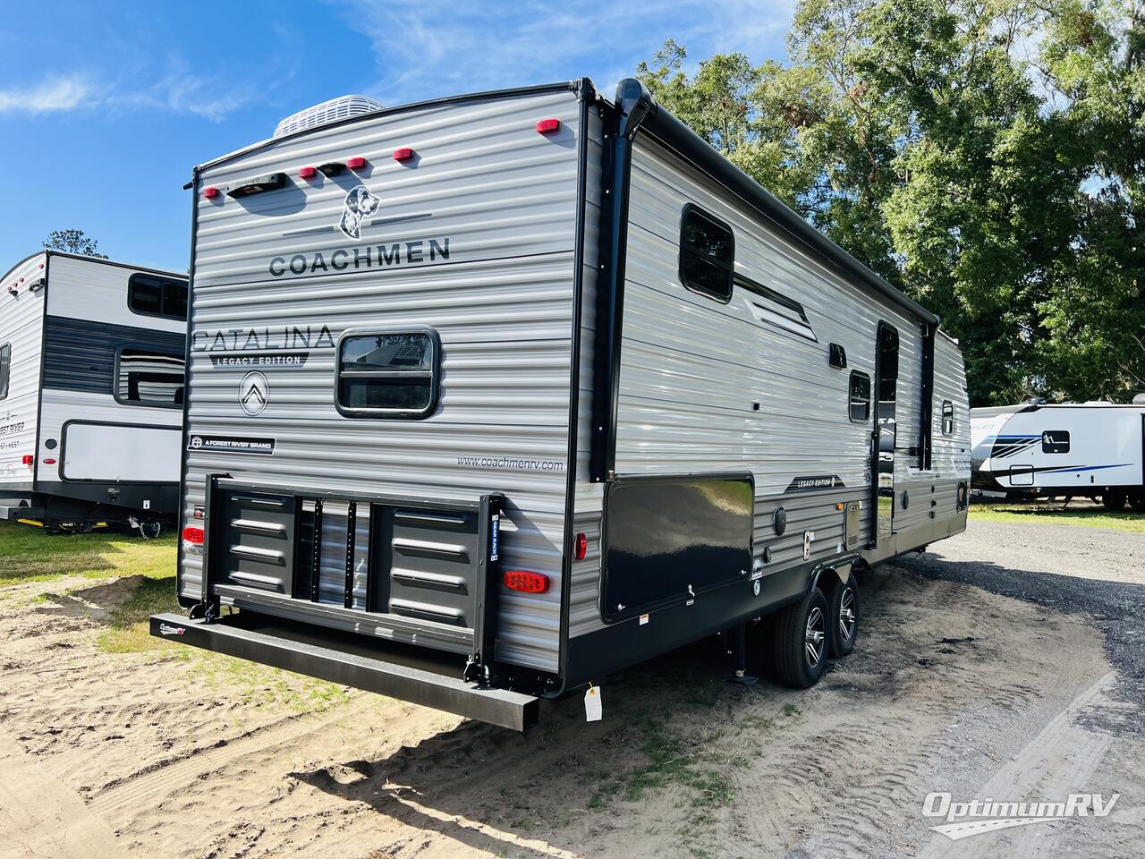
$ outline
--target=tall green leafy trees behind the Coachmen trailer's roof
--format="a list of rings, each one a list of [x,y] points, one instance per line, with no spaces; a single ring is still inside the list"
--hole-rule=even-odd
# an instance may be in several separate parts
[[[942,317],[976,405],[1145,389],[1132,0],[800,0],[787,62],[673,41],[638,77]]]

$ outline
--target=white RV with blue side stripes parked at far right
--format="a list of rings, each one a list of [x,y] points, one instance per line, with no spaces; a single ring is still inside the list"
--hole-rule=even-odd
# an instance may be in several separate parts
[[[1145,512],[1145,402],[973,409],[973,487],[1011,496],[1100,498]]]

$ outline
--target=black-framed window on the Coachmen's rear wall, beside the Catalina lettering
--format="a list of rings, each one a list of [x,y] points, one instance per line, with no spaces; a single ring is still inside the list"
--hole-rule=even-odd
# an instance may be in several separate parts
[[[440,353],[431,329],[345,334],[338,344],[338,410],[362,418],[428,416],[437,403]]]

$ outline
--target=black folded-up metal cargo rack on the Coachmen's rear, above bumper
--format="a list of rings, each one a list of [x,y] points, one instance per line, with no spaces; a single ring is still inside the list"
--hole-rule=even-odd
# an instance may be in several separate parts
[[[490,535],[500,496],[308,497],[218,479],[211,507],[210,578],[234,605],[466,655],[492,653]]]

